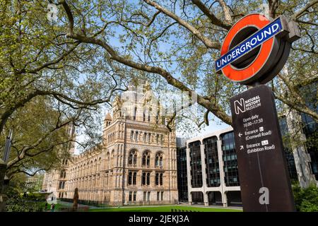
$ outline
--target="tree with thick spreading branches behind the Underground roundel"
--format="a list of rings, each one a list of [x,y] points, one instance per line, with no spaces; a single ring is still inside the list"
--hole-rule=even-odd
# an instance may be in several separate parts
[[[105,62],[159,75],[179,90],[195,90],[197,103],[206,114],[212,112],[232,124],[229,97],[245,87],[214,73],[213,61],[230,27],[247,13],[257,11],[262,1],[49,2],[64,9],[60,20],[67,21],[66,36],[71,40],[85,43],[86,47],[102,47]],[[270,85],[278,100],[318,121],[317,112],[298,95],[300,85],[318,78],[314,57],[317,1],[268,1],[266,6],[269,16],[284,14],[300,23],[303,36],[293,45],[292,60],[288,61],[293,76],[279,76],[283,87],[276,81]]]

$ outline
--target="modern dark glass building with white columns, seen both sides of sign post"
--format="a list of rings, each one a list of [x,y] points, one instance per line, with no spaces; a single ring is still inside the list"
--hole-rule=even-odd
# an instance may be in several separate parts
[[[281,117],[279,123],[290,179],[297,181],[298,174],[285,117]],[[312,171],[317,176],[318,159],[315,154],[312,153]],[[177,174],[179,201],[206,206],[241,206],[232,127],[189,139],[185,147],[178,148]]]

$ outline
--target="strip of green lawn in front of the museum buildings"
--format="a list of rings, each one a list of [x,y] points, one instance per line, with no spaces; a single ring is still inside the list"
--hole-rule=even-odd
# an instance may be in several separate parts
[[[192,206],[156,206],[156,207],[119,207],[119,208],[101,208],[90,209],[90,212],[171,212],[171,209],[192,210],[199,212],[242,212],[242,210],[225,209],[225,208],[201,208]]]

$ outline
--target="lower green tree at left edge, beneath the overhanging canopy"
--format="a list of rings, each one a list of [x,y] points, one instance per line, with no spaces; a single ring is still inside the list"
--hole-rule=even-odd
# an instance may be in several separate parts
[[[69,157],[65,147],[75,140],[67,129],[76,118],[66,118],[66,112],[49,104],[46,97],[36,97],[18,109],[6,124],[14,131],[7,165],[9,179],[20,172],[34,176],[44,169],[60,167],[61,156]],[[4,141],[1,136],[1,149]]]

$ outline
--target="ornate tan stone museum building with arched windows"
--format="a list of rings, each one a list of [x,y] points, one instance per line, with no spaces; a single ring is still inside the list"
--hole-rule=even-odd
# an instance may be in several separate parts
[[[80,155],[71,147],[71,159],[45,174],[42,189],[71,201],[78,188],[80,201],[112,206],[177,202],[175,131],[164,120],[149,85],[130,86],[105,117],[102,144]]]

